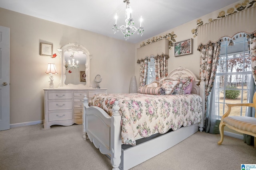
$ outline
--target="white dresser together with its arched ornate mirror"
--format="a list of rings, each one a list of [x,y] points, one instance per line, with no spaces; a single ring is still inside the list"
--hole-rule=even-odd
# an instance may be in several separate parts
[[[58,49],[61,77],[58,88],[44,88],[44,129],[51,125],[82,124],[83,98],[106,94],[105,88],[90,86],[90,55],[80,44],[68,43]]]

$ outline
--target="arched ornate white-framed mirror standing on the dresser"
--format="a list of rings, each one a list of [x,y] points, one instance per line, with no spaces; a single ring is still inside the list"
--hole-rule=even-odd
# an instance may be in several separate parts
[[[61,57],[59,88],[90,88],[90,53],[82,45],[69,43],[58,49]]]

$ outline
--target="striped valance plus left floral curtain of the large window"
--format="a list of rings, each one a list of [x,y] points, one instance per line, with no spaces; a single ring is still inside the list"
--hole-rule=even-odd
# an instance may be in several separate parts
[[[208,114],[205,115],[205,117],[208,117],[206,126],[211,127],[211,117],[212,121],[216,118],[214,114],[211,114],[209,109],[209,106],[211,106],[210,101],[214,96],[209,96],[209,94],[214,82],[221,39],[223,37],[232,38],[234,35],[241,32],[245,32],[249,35],[255,33],[255,16],[256,7],[254,6],[198,27],[197,38],[198,51],[200,51],[200,78],[206,82],[205,114]],[[208,128],[205,127],[205,129]]]

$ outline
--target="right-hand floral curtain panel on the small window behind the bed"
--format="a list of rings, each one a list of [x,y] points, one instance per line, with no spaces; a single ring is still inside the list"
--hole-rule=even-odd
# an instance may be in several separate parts
[[[154,57],[155,59],[155,75],[156,80],[158,81],[162,77],[166,77],[168,75],[168,58],[169,55],[157,55]]]

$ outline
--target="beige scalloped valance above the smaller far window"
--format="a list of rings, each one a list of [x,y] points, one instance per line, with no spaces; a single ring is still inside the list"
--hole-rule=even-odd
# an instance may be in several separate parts
[[[146,57],[150,57],[151,55],[157,56],[162,54],[169,56],[169,40],[168,39],[161,39],[152,44],[149,44],[137,49],[138,61],[141,61]]]

